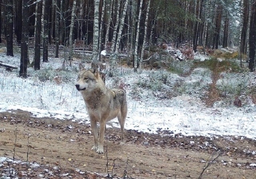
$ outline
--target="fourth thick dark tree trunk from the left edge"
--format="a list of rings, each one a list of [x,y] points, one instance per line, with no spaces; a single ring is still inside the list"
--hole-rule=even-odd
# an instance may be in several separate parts
[[[52,0],[45,0],[44,4],[44,37],[43,37],[43,62],[48,62],[49,43],[49,14]]]

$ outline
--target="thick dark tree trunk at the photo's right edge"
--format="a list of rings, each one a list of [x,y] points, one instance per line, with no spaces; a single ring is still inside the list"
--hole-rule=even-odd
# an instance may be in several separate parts
[[[255,49],[256,49],[256,0],[252,4],[250,17],[250,32],[249,32],[249,69],[254,71],[255,66]]]

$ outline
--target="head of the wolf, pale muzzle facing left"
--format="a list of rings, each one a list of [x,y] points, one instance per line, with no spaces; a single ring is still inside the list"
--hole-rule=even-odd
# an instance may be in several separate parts
[[[102,87],[104,82],[100,78],[98,69],[92,68],[89,70],[84,69],[83,65],[79,64],[79,73],[76,83],[76,89],[78,91],[92,91],[97,87]]]

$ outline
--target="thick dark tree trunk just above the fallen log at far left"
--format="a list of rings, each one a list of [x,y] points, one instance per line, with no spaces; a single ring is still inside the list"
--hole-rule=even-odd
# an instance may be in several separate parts
[[[6,4],[7,55],[13,57],[13,8],[12,0]]]

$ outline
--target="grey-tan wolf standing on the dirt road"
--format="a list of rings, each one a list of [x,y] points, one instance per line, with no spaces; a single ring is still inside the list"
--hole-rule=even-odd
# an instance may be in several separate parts
[[[124,145],[124,123],[128,111],[126,92],[121,89],[108,89],[100,77],[97,68],[86,70],[79,64],[76,89],[80,91],[90,118],[94,145],[92,150],[98,154],[104,152],[103,140],[106,122],[118,118],[121,126],[121,145]],[[97,122],[100,123],[98,136]]]

